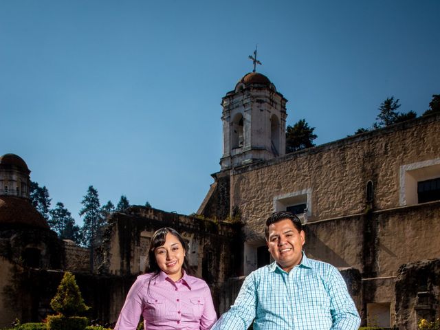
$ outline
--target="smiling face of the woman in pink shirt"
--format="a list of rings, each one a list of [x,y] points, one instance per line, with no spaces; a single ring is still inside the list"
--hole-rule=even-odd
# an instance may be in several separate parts
[[[159,268],[173,281],[179,281],[185,259],[185,249],[179,239],[168,232],[164,245],[155,248],[154,255]]]

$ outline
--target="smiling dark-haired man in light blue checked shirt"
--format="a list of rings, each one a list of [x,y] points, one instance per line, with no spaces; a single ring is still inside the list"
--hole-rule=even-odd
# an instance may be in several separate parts
[[[303,253],[300,219],[275,212],[265,236],[275,262],[245,278],[234,305],[211,330],[358,330],[360,317],[340,272]]]

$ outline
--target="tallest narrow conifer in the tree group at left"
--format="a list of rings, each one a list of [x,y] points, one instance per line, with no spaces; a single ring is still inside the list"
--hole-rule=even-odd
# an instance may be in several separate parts
[[[81,228],[81,243],[89,248],[93,248],[100,236],[100,229],[104,226],[98,190],[93,186],[89,186],[87,194],[83,197],[81,203],[84,206],[80,210],[80,216],[84,216],[84,224],[83,228]]]

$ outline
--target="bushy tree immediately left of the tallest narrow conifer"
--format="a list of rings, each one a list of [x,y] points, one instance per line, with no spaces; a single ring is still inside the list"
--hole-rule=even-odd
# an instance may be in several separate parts
[[[60,239],[71,239],[78,243],[80,228],[75,225],[72,214],[65,208],[61,201],[56,203],[56,207],[50,210],[51,219],[47,221],[50,228],[58,234]]]

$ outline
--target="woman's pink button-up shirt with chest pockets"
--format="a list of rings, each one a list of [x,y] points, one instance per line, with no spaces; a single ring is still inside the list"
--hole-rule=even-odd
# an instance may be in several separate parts
[[[153,276],[151,273],[137,276],[115,330],[135,330],[141,315],[146,330],[205,330],[214,325],[217,314],[205,281],[185,272],[177,282],[164,272]]]

